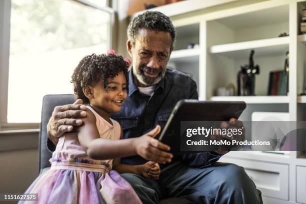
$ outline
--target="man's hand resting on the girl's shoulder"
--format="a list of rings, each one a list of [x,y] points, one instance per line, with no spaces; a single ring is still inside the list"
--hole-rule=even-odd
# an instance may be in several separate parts
[[[58,137],[64,132],[72,131],[73,126],[82,124],[81,119],[75,119],[86,116],[86,112],[82,111],[86,109],[86,106],[82,103],[81,99],[77,99],[73,104],[54,107],[47,124],[48,137],[54,144],[57,144]]]

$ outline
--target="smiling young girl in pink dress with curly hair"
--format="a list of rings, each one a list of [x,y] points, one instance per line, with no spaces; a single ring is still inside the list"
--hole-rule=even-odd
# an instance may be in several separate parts
[[[74,93],[86,106],[86,117],[76,133],[59,138],[50,159],[51,168],[38,176],[25,193],[38,193],[38,203],[141,203],[120,173],[133,172],[157,179],[158,163],[120,164],[118,158],[145,155],[144,144],[169,150],[155,136],[160,127],[137,138],[122,139],[118,122],[110,118],[126,98],[128,59],[108,54],[85,56],[74,69]],[[144,157],[144,156],[143,156]],[[170,161],[171,155],[168,155]],[[111,158],[116,158],[112,163]],[[20,203],[23,203],[20,201]],[[32,202],[31,202],[32,203]]]

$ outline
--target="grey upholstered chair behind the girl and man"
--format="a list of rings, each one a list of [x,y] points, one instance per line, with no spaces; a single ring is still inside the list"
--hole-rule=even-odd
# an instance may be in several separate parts
[[[52,152],[47,149],[47,130],[46,125],[52,115],[53,109],[57,105],[71,104],[75,101],[73,94],[53,94],[45,95],[42,99],[41,123],[39,132],[39,173],[44,172],[50,167],[49,158]],[[167,198],[160,200],[161,204],[190,204],[193,203],[184,197]]]

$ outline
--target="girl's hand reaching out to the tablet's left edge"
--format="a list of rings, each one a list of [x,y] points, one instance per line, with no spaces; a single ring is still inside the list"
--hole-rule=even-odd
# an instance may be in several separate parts
[[[170,150],[170,147],[153,138],[159,131],[160,126],[156,125],[151,131],[135,138],[134,148],[136,153],[146,160],[155,161],[157,163],[171,162],[173,155],[166,152]]]

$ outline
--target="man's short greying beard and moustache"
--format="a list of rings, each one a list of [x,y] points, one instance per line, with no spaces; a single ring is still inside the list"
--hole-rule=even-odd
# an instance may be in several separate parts
[[[161,78],[165,74],[165,69],[163,70],[162,68],[149,68],[147,66],[140,66],[139,68],[136,68],[135,64],[133,64],[133,73],[136,76],[138,82],[144,84],[144,85],[154,85],[158,83]],[[156,77],[149,77],[144,75],[143,71],[148,71],[148,72],[153,72],[153,73],[158,73]]]

